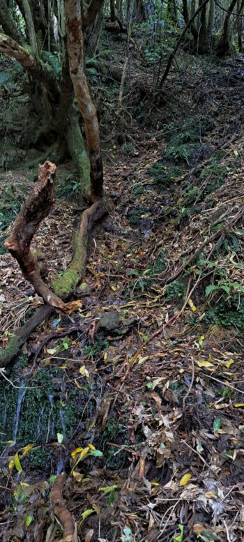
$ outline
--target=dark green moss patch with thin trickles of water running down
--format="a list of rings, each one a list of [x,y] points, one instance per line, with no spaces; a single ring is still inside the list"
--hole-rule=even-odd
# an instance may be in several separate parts
[[[15,366],[10,379],[16,388],[6,385],[6,380],[0,381],[0,449],[4,449],[16,432],[19,448],[26,444],[38,446],[23,458],[23,468],[47,467],[48,470],[51,461],[56,461],[56,448],[49,443],[57,442],[58,432],[65,442],[73,435],[81,416],[93,416],[96,401],[91,400],[90,389],[95,398],[100,389],[96,382],[90,382],[90,389],[85,385],[77,389],[58,369],[41,368],[31,382],[21,380],[20,375],[21,367]]]

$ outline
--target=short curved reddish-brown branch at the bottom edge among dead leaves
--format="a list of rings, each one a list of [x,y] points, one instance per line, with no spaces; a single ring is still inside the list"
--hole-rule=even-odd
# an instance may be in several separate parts
[[[66,509],[66,505],[63,501],[62,492],[65,481],[65,474],[60,474],[54,481],[51,490],[52,512],[63,530],[62,542],[78,542],[77,524],[73,515]]]

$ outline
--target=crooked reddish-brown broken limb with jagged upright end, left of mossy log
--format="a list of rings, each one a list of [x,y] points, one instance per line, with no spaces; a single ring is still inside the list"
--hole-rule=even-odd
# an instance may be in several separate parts
[[[38,183],[22,207],[13,231],[4,244],[10,254],[17,259],[24,278],[33,285],[43,301],[63,313],[72,313],[79,306],[79,301],[64,303],[49,289],[40,276],[37,259],[31,253],[30,248],[38,226],[43,218],[48,216],[54,204],[55,173],[56,166],[52,162],[46,161],[45,164],[40,165]]]

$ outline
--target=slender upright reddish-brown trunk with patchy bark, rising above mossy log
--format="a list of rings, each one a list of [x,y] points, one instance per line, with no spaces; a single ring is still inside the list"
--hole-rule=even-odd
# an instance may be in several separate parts
[[[74,85],[79,110],[84,120],[91,165],[91,193],[89,199],[96,201],[98,197],[102,196],[103,191],[102,158],[96,107],[91,100],[84,72],[82,13],[79,0],[65,0],[65,11],[70,77]]]

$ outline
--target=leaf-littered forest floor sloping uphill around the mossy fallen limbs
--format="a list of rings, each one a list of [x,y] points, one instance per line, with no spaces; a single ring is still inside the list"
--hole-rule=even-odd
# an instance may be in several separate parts
[[[243,540],[243,60],[199,61],[176,98],[163,126],[133,123],[105,149],[114,208],[93,229],[82,308],[52,315],[1,373],[3,542],[61,538],[49,492],[63,470],[85,542]],[[33,177],[0,174],[2,220]],[[57,183],[33,243],[48,280],[80,215],[69,164]],[[4,346],[42,301],[10,255],[0,267]]]

